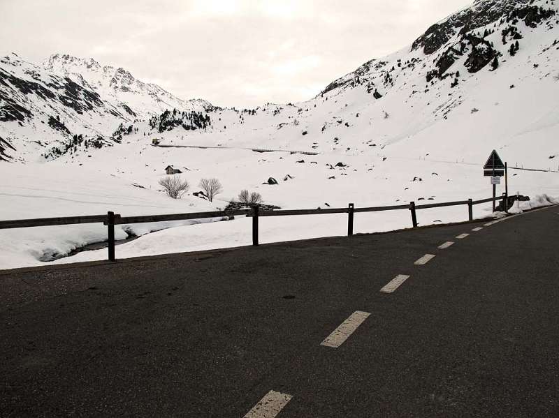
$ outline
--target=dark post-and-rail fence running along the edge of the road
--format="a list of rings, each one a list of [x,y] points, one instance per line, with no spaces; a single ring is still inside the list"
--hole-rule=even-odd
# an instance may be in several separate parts
[[[293,209],[293,210],[277,210],[262,211],[259,207],[252,209],[238,209],[233,211],[211,211],[211,212],[190,212],[186,214],[167,214],[167,215],[147,215],[147,216],[121,216],[114,212],[108,212],[106,215],[89,215],[89,216],[66,216],[61,218],[36,218],[36,219],[19,219],[13,221],[0,221],[0,230],[10,228],[25,228],[39,226],[55,226],[55,225],[73,225],[80,223],[103,223],[108,227],[108,260],[115,261],[115,225],[131,224],[131,223],[151,223],[166,221],[185,221],[188,219],[203,218],[225,218],[228,216],[247,216],[252,218],[252,245],[259,245],[259,218],[268,216],[301,216],[301,215],[325,215],[325,214],[348,214],[347,235],[351,237],[354,234],[354,214],[364,212],[380,212],[407,209],[412,215],[412,225],[417,227],[416,211],[421,209],[432,209],[437,207],[460,206],[467,204],[468,219],[473,221],[473,206],[487,202],[497,202],[505,200],[508,197],[502,195],[500,197],[489,197],[481,200],[460,200],[457,202],[442,202],[429,204],[399,204],[395,206],[379,206],[379,207],[354,207],[350,203],[344,208],[328,208],[328,209]]]

